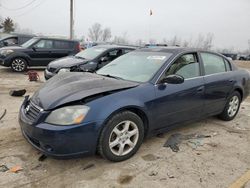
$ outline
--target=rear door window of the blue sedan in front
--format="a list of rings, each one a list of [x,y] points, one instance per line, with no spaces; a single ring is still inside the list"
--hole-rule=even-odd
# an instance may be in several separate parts
[[[201,58],[204,64],[205,75],[226,72],[226,66],[222,57],[210,53],[201,53]]]

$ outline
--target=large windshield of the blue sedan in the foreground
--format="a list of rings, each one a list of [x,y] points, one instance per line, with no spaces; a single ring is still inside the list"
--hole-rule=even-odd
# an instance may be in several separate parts
[[[130,52],[115,59],[96,73],[124,80],[147,82],[171,55],[163,52]]]

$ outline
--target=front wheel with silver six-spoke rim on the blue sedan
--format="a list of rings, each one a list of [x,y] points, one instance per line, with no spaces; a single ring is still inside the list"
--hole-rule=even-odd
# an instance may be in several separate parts
[[[144,138],[141,118],[133,112],[115,114],[105,124],[99,139],[98,152],[110,161],[119,162],[132,157]]]

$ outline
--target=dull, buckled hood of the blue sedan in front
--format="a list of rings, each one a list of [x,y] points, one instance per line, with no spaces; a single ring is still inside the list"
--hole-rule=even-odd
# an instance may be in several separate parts
[[[86,72],[61,73],[51,78],[36,91],[31,101],[44,110],[51,110],[96,94],[128,89],[138,85],[135,82]]]

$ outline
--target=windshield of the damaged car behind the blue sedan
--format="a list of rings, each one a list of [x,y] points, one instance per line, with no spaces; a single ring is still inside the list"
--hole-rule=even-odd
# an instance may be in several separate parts
[[[103,47],[92,47],[77,53],[75,56],[84,59],[94,59],[101,53],[103,53],[105,50],[107,49]]]

